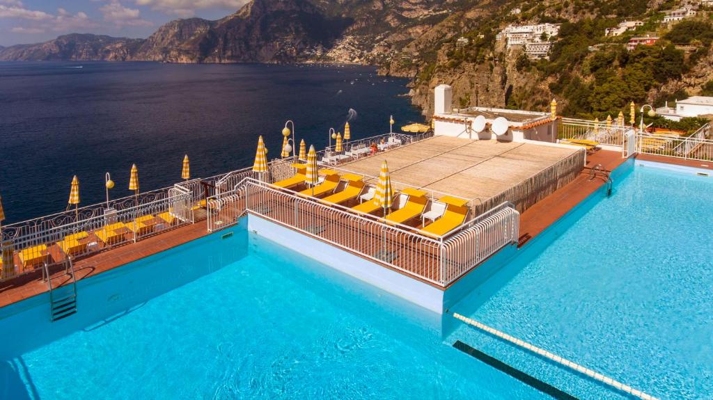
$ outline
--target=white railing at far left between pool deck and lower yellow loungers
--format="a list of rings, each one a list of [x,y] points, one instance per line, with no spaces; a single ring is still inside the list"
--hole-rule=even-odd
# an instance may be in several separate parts
[[[120,199],[109,208],[106,203],[98,204],[83,207],[78,213],[71,210],[2,226],[0,280],[31,273],[45,263],[63,263],[68,256],[89,256],[192,222],[193,197],[185,188],[173,187],[160,195],[140,197],[138,205],[131,199],[133,206]],[[143,222],[135,223],[139,218]]]

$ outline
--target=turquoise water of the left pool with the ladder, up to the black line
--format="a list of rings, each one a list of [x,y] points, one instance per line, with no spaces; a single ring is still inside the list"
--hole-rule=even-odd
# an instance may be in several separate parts
[[[543,397],[444,344],[437,315],[244,230],[220,237],[81,281],[65,320],[3,310],[0,398]]]

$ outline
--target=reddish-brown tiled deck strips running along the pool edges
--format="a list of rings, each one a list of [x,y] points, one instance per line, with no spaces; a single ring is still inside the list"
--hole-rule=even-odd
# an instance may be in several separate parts
[[[378,158],[378,157],[374,157]],[[713,169],[713,166],[702,165],[702,162],[672,159],[671,157],[655,157],[639,155],[637,159],[645,159],[669,164],[687,165]],[[602,164],[607,171],[611,171],[622,164],[620,152],[600,150],[587,157],[585,169],[569,184],[558,189],[553,194],[538,201],[520,215],[520,246],[531,238],[537,236],[548,226],[560,219],[568,211],[580,204],[590,194],[594,193],[605,181],[594,179],[589,181],[589,169],[596,164]],[[713,164],[713,163],[712,163]],[[168,250],[183,243],[188,243],[202,236],[207,236],[206,221],[198,221],[188,226],[180,226],[164,233],[146,238],[138,243],[128,243],[124,246],[112,248],[108,251],[97,253],[93,256],[81,258],[74,263],[76,278],[81,280],[106,270],[111,270],[120,265],[151,256],[155,253]],[[52,268],[54,286],[68,283],[68,276],[64,275],[61,265]],[[411,275],[409,275],[411,276]],[[413,278],[413,277],[412,277]],[[47,284],[41,280],[41,271],[21,275],[0,283],[0,307],[31,298],[47,292]]]

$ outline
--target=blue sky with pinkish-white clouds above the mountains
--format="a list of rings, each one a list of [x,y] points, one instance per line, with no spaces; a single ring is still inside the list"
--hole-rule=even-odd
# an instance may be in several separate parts
[[[0,0],[0,46],[66,33],[145,38],[179,18],[220,19],[247,0]]]

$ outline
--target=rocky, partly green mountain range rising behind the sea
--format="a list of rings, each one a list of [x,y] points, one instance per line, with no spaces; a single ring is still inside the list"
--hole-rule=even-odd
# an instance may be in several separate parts
[[[617,115],[631,101],[659,105],[713,93],[713,11],[663,23],[663,0],[252,0],[217,21],[179,19],[146,39],[71,34],[0,48],[0,60],[153,60],[170,63],[359,63],[411,79],[415,105],[453,87],[459,107]],[[640,23],[620,36],[605,29]],[[558,23],[548,58],[531,59],[497,33]],[[661,36],[627,49],[632,36]],[[463,45],[465,41],[465,45]]]

